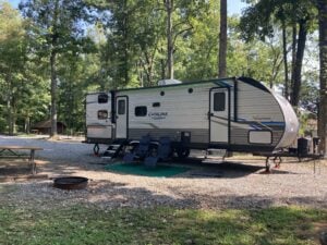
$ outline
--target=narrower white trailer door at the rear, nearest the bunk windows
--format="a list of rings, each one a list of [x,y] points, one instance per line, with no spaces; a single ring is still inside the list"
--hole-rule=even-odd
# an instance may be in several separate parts
[[[129,105],[126,96],[117,97],[116,113],[116,138],[128,138]]]

